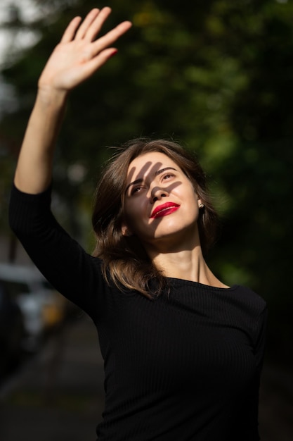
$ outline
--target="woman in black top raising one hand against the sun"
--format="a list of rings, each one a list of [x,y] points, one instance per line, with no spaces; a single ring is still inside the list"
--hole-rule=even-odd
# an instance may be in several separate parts
[[[46,278],[91,316],[105,362],[98,440],[259,440],[266,305],[204,261],[216,213],[199,164],[138,139],[100,180],[94,256],[50,210],[53,148],[70,89],[131,24],[95,40],[110,8],[74,18],[49,58],[15,171],[10,221]]]

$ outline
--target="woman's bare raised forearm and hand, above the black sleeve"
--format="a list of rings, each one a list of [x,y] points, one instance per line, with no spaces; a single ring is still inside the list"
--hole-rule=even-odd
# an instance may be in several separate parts
[[[93,9],[84,21],[75,17],[41,73],[15,171],[15,186],[22,192],[37,194],[50,184],[53,151],[68,93],[116,54],[117,49],[109,46],[131,27],[128,21],[120,23],[96,39],[110,12],[106,7]]]

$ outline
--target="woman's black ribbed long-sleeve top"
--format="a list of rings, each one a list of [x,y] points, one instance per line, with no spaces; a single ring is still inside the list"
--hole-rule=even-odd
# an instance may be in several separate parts
[[[51,213],[13,187],[11,228],[45,277],[91,316],[105,366],[98,441],[256,441],[266,304],[239,285],[169,278],[150,300],[108,285]]]

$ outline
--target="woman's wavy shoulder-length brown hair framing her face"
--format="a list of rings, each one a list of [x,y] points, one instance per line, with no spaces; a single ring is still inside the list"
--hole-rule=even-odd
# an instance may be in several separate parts
[[[129,164],[136,157],[151,151],[166,154],[183,170],[193,183],[204,204],[198,218],[198,230],[203,254],[214,243],[218,216],[207,192],[207,179],[202,167],[188,151],[176,142],[166,139],[134,139],[117,149],[106,166],[96,189],[93,207],[93,230],[96,249],[93,256],[103,260],[103,275],[111,279],[120,290],[123,287],[137,290],[152,298],[166,285],[163,277],[135,237],[122,235],[123,197]]]

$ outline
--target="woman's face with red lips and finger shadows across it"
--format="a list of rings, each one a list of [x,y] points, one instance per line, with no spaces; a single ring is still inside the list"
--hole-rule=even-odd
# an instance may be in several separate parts
[[[136,235],[145,247],[198,241],[201,201],[169,156],[154,151],[134,159],[124,197],[124,235]]]

